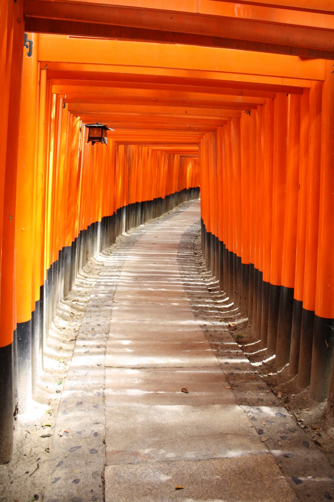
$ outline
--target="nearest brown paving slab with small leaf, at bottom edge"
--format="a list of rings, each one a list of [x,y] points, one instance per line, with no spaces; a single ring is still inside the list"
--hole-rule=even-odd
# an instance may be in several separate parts
[[[106,467],[105,482],[106,502],[298,501],[268,454],[112,465]]]

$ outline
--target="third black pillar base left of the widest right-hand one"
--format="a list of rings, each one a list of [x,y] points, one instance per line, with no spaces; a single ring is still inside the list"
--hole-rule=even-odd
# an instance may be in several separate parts
[[[289,362],[293,311],[293,288],[281,286],[276,340],[276,368]]]

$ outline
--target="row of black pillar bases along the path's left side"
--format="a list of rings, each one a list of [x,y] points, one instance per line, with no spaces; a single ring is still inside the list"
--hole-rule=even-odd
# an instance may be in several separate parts
[[[184,201],[199,198],[199,188],[184,189],[165,198],[136,202],[81,230],[71,246],[63,247],[47,270],[40,300],[31,319],[18,323],[13,343],[0,347],[0,462],[13,452],[13,416],[25,412],[35,396],[43,369],[43,353],[57,308],[72,290],[85,264],[130,228],[156,218]]]

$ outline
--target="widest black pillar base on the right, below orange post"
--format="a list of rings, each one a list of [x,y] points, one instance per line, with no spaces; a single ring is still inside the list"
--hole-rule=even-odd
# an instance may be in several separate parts
[[[327,398],[333,355],[334,319],[314,316],[313,348],[309,397],[314,401]]]

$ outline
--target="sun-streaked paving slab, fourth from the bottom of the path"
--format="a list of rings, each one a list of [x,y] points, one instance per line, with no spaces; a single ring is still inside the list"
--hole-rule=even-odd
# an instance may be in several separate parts
[[[218,366],[207,340],[198,342],[162,342],[108,340],[106,367],[192,367]]]

